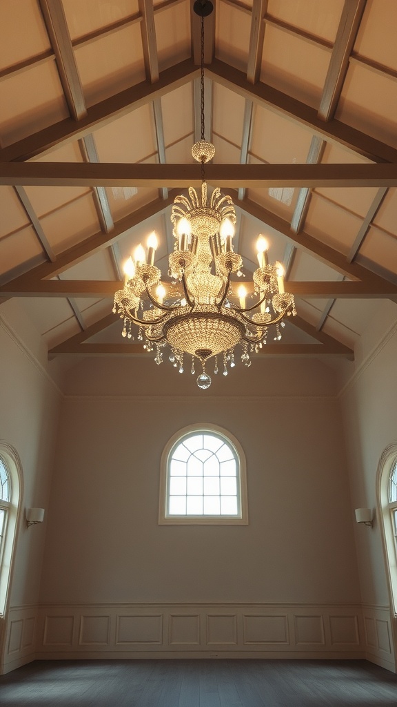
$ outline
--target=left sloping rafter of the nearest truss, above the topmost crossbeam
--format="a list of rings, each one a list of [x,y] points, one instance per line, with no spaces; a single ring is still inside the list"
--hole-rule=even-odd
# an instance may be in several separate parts
[[[141,81],[116,95],[105,98],[100,103],[88,107],[87,114],[80,120],[65,118],[54,125],[29,135],[0,150],[1,161],[28,160],[36,155],[52,151],[57,145],[76,141],[93,132],[98,127],[126,115],[132,110],[147,105],[170,90],[184,86],[198,76],[199,69],[191,59],[171,66],[160,72],[156,83]]]

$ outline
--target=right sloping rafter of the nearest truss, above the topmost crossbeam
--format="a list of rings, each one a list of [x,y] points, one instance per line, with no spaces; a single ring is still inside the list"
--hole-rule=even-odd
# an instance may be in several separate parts
[[[375,162],[397,162],[397,149],[393,148],[348,124],[332,119],[329,122],[321,120],[314,108],[302,103],[296,98],[282,93],[280,90],[258,81],[249,83],[243,71],[213,59],[206,69],[214,81],[230,90],[235,90],[243,98],[253,100],[268,110],[274,110],[285,118],[292,119],[309,128],[324,139],[341,144],[352,152],[374,160]]]

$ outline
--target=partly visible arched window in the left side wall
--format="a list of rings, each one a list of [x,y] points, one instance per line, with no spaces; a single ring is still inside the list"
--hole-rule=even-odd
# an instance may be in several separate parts
[[[21,496],[19,457],[10,445],[0,441],[0,614],[6,609]]]

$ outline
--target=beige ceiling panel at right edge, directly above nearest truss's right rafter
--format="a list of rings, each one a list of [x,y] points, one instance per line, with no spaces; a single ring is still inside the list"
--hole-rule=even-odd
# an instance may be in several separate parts
[[[396,81],[366,66],[350,64],[336,118],[396,147],[396,115]]]

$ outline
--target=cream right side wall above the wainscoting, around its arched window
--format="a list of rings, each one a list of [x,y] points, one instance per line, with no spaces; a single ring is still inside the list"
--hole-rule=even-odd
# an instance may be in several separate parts
[[[397,305],[387,302],[357,347],[356,373],[341,395],[353,508],[377,506],[381,453],[397,441]],[[379,519],[356,527],[362,602],[389,604]]]

